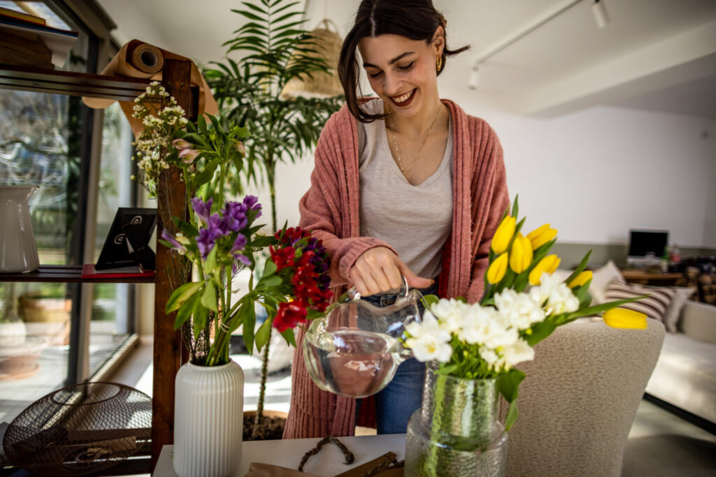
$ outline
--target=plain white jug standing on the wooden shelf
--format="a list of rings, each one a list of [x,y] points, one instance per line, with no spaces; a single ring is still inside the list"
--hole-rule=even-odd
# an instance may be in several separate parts
[[[0,186],[0,273],[32,272],[40,266],[29,207],[37,188]]]

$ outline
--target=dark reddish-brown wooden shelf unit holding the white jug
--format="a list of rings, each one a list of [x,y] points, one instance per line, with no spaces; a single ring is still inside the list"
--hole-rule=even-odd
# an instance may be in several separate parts
[[[190,88],[191,62],[178,59],[166,59],[163,68],[162,84],[174,96],[185,112],[192,111],[192,90]],[[21,91],[66,94],[69,96],[87,96],[118,101],[134,101],[145,91],[149,79],[110,77],[100,74],[63,72],[53,69],[18,67],[0,64],[0,89],[18,89]],[[190,118],[195,119],[195,118]],[[160,177],[160,183],[177,184],[179,170],[171,167]],[[171,187],[164,187],[170,190]],[[162,187],[159,187],[162,189]],[[158,201],[160,203],[160,201]],[[181,215],[185,211],[185,195],[175,191],[170,197],[170,213]],[[161,215],[160,215],[161,216]],[[161,219],[157,224],[162,230]],[[173,443],[174,433],[174,378],[182,363],[188,360],[187,350],[183,346],[180,331],[174,330],[174,317],[165,313],[165,303],[171,295],[166,271],[170,268],[170,251],[157,244],[157,274],[154,279],[142,282],[155,283],[154,315],[154,383],[152,400],[152,468],[154,468],[162,447]],[[45,272],[47,270],[47,272]],[[22,276],[26,275],[26,276]],[[129,280],[84,279],[82,270],[64,267],[52,269],[48,265],[41,267],[35,275],[17,274],[16,281],[56,281],[56,282],[130,282]],[[9,277],[10,275],[5,275]],[[0,279],[2,281],[2,279]],[[8,280],[4,280],[8,281]],[[137,280],[136,282],[140,282]],[[107,474],[109,475],[109,474]]]

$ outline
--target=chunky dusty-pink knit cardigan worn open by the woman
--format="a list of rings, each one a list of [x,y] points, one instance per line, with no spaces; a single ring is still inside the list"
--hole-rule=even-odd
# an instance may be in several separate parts
[[[497,135],[457,104],[443,100],[453,121],[453,230],[442,253],[441,296],[480,299],[490,240],[509,205],[503,152]],[[331,257],[337,294],[349,270],[372,247],[390,245],[360,236],[357,122],[347,107],[333,114],[321,132],[311,187],[299,202],[301,227],[323,240]],[[394,250],[395,251],[395,250]],[[314,385],[306,372],[301,341],[294,353],[291,411],[284,438],[352,436],[356,401]]]

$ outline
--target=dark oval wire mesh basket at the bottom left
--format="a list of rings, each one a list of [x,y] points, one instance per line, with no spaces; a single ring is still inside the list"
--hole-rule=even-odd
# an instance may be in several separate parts
[[[102,471],[136,453],[151,436],[152,398],[117,383],[84,383],[29,405],[5,432],[14,465],[47,476]]]

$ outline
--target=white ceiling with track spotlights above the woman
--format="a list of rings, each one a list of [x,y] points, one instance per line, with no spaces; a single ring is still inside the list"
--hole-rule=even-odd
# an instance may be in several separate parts
[[[448,97],[470,95],[518,114],[550,117],[598,104],[716,118],[716,1],[602,0],[599,29],[583,0],[480,65],[475,60],[572,0],[434,0],[448,19],[448,44],[471,49],[441,76]],[[99,0],[117,38],[142,39],[199,62],[221,59],[241,26],[237,0]],[[304,0],[312,28],[324,16],[342,34],[359,0]]]

